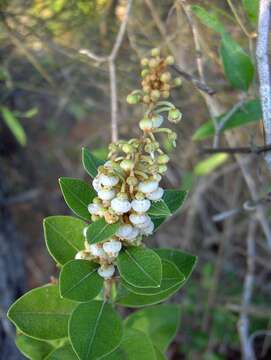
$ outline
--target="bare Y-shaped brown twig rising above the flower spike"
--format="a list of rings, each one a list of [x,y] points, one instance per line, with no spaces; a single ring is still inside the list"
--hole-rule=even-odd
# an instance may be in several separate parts
[[[108,63],[109,69],[109,82],[110,82],[110,99],[111,99],[111,140],[116,142],[118,140],[118,94],[117,94],[117,76],[116,76],[116,65],[115,60],[117,58],[119,49],[124,39],[126,27],[128,24],[133,0],[128,0],[126,5],[126,12],[120,25],[115,43],[108,56],[100,56],[94,54],[88,49],[81,49],[80,54],[86,55],[91,60],[97,61],[98,63]]]

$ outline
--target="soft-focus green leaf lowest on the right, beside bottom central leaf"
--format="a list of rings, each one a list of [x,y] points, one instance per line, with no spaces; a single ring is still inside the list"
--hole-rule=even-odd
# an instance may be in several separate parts
[[[125,326],[146,333],[154,345],[165,352],[180,325],[180,307],[156,305],[139,310],[125,320]]]

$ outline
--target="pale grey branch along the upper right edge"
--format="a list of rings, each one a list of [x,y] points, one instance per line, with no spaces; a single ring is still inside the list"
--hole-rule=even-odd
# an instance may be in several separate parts
[[[256,59],[266,142],[271,143],[271,85],[268,59],[271,0],[260,0]],[[271,171],[271,153],[265,156]]]

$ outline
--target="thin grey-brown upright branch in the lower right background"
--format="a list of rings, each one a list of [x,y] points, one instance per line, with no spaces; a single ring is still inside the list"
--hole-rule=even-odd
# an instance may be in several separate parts
[[[256,236],[257,222],[255,219],[251,219],[249,223],[248,235],[247,235],[247,270],[245,275],[245,282],[242,295],[242,305],[238,321],[238,332],[241,342],[242,356],[244,360],[255,360],[255,354],[252,346],[252,342],[249,340],[249,314],[247,308],[250,307],[254,272],[255,272],[255,236]]]

